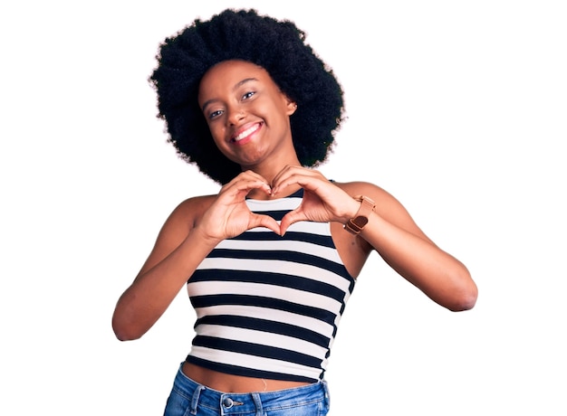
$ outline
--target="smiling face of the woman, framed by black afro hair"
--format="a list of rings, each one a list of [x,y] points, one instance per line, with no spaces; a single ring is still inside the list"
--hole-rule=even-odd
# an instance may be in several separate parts
[[[216,146],[235,163],[253,168],[296,157],[289,117],[297,106],[264,68],[247,61],[216,64],[201,80],[198,103]]]

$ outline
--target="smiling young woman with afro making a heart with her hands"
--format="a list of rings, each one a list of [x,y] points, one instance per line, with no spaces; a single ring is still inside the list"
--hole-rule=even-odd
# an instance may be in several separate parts
[[[187,286],[196,336],[165,414],[326,414],[330,348],[371,251],[439,305],[475,305],[466,267],[392,195],[313,169],[342,91],[293,23],[196,20],[161,45],[151,80],[179,155],[222,184],[175,208],[114,311],[116,336],[139,338]]]

